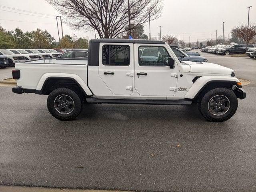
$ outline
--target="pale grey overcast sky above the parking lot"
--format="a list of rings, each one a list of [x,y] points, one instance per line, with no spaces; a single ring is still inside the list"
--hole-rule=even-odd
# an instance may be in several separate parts
[[[151,22],[151,36],[154,37],[158,37],[159,26],[162,26],[162,35],[170,32],[177,38],[180,34],[180,40],[186,42],[189,36],[191,42],[197,39],[205,41],[211,34],[212,39],[216,37],[216,29],[217,36],[222,35],[222,22],[225,22],[224,36],[228,37],[234,26],[247,24],[248,6],[252,6],[250,22],[256,22],[256,0],[163,0],[163,4],[162,17]],[[16,27],[23,31],[41,28],[58,39],[55,18],[58,15],[61,16],[45,0],[0,0],[0,25],[6,30],[14,30]],[[144,25],[144,30],[148,35],[148,23]],[[64,35],[74,33],[78,38],[94,38],[94,31],[75,31],[65,24],[63,32]]]

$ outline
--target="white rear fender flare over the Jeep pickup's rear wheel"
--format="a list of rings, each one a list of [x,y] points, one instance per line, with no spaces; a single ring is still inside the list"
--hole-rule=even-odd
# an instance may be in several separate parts
[[[88,86],[86,85],[84,80],[82,80],[82,78],[80,76],[78,76],[76,74],[68,74],[68,73],[46,73],[46,74],[43,74],[37,84],[36,90],[41,91],[44,86],[44,82],[46,82],[46,80],[49,78],[71,78],[79,84],[79,86],[84,90],[84,92],[88,96],[92,96],[92,92],[90,91],[90,89],[88,88]]]

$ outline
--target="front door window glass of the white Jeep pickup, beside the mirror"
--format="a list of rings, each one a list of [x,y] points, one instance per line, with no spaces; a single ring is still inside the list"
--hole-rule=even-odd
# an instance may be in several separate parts
[[[140,46],[139,65],[140,66],[167,66],[168,54],[166,48],[161,46]]]

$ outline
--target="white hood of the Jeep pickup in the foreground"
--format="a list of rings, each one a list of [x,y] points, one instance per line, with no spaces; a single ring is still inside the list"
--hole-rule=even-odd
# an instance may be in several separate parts
[[[223,67],[218,64],[208,63],[208,62],[192,62],[192,61],[182,61],[186,64],[189,64],[191,67],[192,73],[214,73],[214,74],[228,74],[231,75],[231,72],[234,70]]]

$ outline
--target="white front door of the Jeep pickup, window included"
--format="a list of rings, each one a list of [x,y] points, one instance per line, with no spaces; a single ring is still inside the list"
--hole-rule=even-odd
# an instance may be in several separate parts
[[[143,96],[173,96],[176,94],[178,66],[167,66],[171,52],[166,45],[136,44],[134,86]]]

